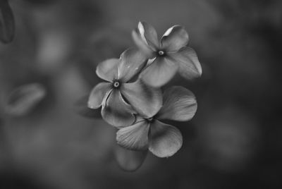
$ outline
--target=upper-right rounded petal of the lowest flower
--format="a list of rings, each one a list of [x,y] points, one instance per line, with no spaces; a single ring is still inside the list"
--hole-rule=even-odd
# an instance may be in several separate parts
[[[158,119],[188,121],[197,111],[194,94],[181,86],[173,86],[164,91],[164,105],[157,114]]]

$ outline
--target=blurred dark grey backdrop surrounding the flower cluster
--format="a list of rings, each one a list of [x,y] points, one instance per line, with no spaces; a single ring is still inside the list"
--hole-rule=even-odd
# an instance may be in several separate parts
[[[0,188],[281,188],[282,1],[11,0],[13,42],[0,43]],[[202,78],[173,157],[133,173],[114,128],[78,102],[100,61],[133,46],[139,20],[161,36],[184,25]],[[28,109],[26,106],[32,106]],[[93,114],[96,114],[95,112]]]

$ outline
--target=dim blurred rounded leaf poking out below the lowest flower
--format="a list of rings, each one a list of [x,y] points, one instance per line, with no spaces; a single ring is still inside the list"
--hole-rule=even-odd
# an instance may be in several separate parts
[[[127,150],[116,145],[116,161],[124,171],[136,171],[143,164],[148,151]]]

